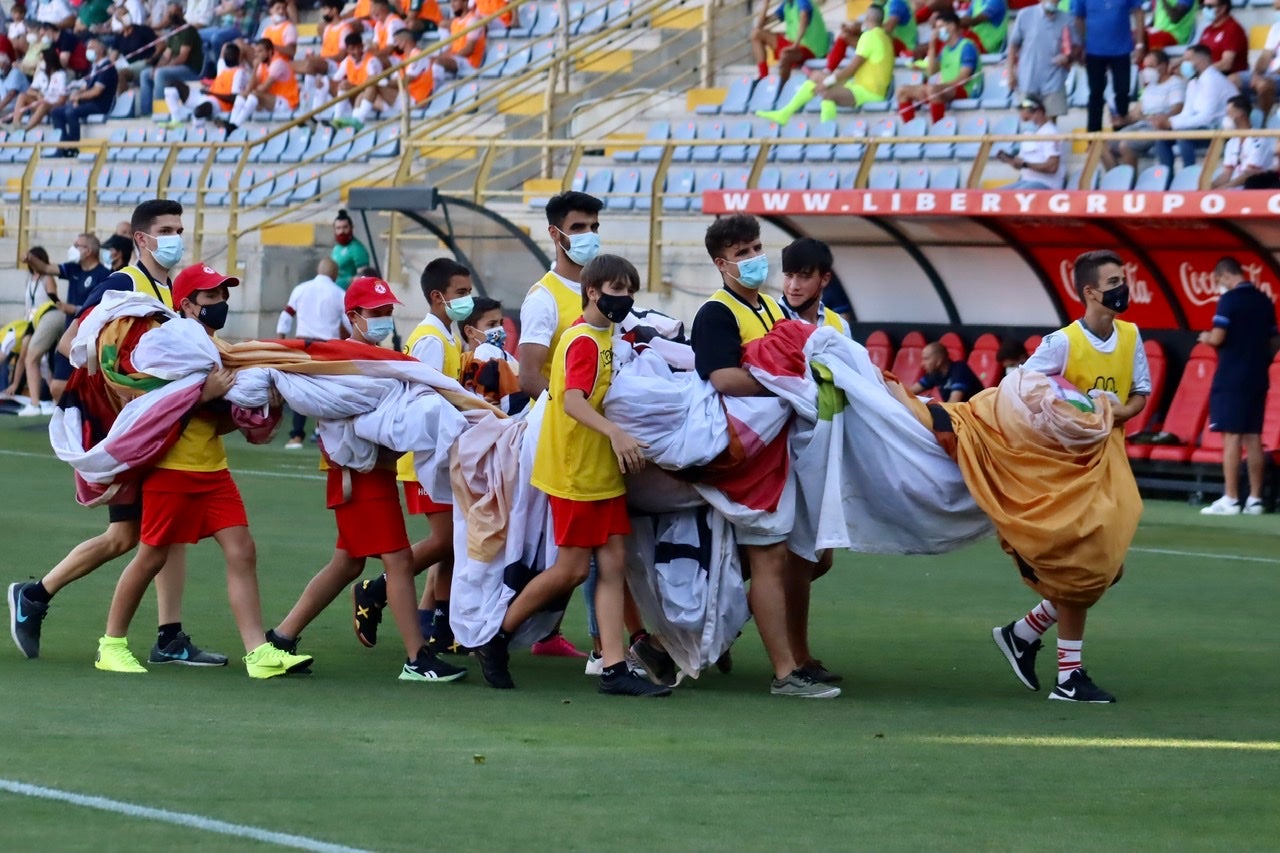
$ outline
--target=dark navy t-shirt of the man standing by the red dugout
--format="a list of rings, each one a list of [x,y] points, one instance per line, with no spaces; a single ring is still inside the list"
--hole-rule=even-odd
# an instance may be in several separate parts
[[[1217,348],[1213,391],[1265,393],[1276,306],[1253,284],[1240,284],[1219,297],[1213,325],[1226,329]]]

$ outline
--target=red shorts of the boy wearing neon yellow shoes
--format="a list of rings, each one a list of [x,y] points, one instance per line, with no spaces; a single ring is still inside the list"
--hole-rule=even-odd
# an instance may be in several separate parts
[[[157,467],[142,480],[143,544],[195,544],[227,528],[248,526],[244,501],[227,469],[174,471]]]

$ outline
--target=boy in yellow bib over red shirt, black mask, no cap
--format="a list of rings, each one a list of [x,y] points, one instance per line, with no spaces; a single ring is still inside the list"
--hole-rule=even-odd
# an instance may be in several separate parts
[[[671,688],[636,675],[625,658],[622,611],[626,567],[622,537],[631,533],[622,475],[644,466],[644,443],[604,416],[613,379],[613,324],[631,311],[640,274],[626,259],[602,255],[582,270],[582,314],[552,356],[550,398],[538,437],[531,483],[547,493],[559,556],[507,607],[502,628],[476,649],[485,681],[511,689],[509,635],[549,602],[586,580],[591,556],[595,612],[604,647],[600,693],[668,695]]]

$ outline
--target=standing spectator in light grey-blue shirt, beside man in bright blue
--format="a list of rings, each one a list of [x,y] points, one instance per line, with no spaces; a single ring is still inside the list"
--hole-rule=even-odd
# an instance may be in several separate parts
[[[1066,114],[1066,74],[1080,42],[1057,0],[1042,0],[1014,18],[1009,32],[1009,91],[1034,95],[1044,114]]]

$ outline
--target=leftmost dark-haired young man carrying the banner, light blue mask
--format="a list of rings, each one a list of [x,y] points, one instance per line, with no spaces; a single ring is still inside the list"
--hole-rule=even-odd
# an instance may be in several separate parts
[[[129,229],[133,233],[133,247],[137,248],[137,263],[120,268],[95,287],[84,298],[81,318],[93,310],[108,291],[137,291],[155,297],[166,307],[177,307],[170,292],[169,272],[182,261],[182,205],[165,199],[143,201],[133,210]],[[63,334],[58,345],[58,351],[63,356],[70,353],[70,345],[79,332],[79,324],[81,319],[77,318]],[[9,587],[10,633],[26,657],[40,654],[41,624],[54,594],[99,566],[132,551],[138,544],[141,519],[141,500],[131,505],[108,506],[108,525],[101,535],[76,546],[41,580]],[[148,662],[225,666],[227,656],[200,649],[182,630],[182,588],[186,575],[186,549],[172,548],[169,562],[156,578],[160,628]]]

